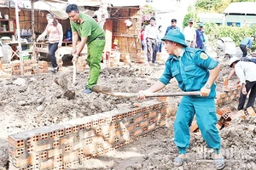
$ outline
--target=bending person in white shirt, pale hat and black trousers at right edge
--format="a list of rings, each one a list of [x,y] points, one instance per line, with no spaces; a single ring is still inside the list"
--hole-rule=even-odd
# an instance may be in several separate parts
[[[251,93],[249,94],[246,109],[251,106],[253,107],[256,98],[256,64],[253,62],[240,61],[238,58],[233,57],[230,59],[230,67],[235,68],[236,76],[239,78],[241,85],[241,94],[237,110],[240,111],[243,109],[247,99],[247,93],[250,90]],[[233,75],[235,74],[235,71],[233,72]],[[228,78],[230,79],[233,75],[230,74]]]

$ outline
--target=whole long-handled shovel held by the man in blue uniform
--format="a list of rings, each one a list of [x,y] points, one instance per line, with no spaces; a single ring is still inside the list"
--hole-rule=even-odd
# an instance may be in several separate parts
[[[111,88],[100,87],[98,85],[93,86],[92,90],[97,94],[108,94],[115,97],[137,97],[137,93],[120,93],[120,92],[112,92]],[[175,93],[151,93],[145,94],[145,97],[167,97],[167,96],[185,96],[185,95],[200,95],[199,91],[194,92],[175,92]]]

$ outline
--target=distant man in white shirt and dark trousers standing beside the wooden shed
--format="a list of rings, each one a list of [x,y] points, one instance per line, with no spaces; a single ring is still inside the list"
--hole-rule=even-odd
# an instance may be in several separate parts
[[[154,17],[151,17],[150,24],[146,26],[146,30],[145,30],[145,39],[147,40],[149,64],[154,63],[156,59],[157,37],[158,37],[158,28],[157,26],[155,26]]]

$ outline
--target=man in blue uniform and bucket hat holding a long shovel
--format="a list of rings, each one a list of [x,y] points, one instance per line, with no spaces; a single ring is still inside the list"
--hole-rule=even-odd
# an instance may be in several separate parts
[[[220,65],[201,49],[188,48],[182,32],[170,30],[165,37],[166,51],[170,54],[166,60],[166,69],[160,79],[147,90],[140,91],[139,99],[145,94],[154,93],[165,88],[175,77],[179,88],[185,92],[201,91],[198,96],[183,96],[177,108],[174,122],[174,143],[179,151],[173,161],[175,166],[182,166],[186,161],[186,150],[189,148],[189,126],[194,116],[207,146],[212,148],[215,168],[224,168],[224,158],[220,154],[220,137],[216,123],[215,108],[216,85]]]

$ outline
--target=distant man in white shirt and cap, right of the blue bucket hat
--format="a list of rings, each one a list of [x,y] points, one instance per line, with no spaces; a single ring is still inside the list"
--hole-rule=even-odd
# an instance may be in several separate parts
[[[195,48],[196,47],[196,31],[193,26],[194,20],[189,20],[189,26],[184,28],[183,34],[185,36],[185,40],[188,44],[188,47]]]

